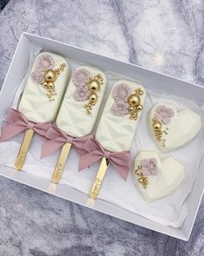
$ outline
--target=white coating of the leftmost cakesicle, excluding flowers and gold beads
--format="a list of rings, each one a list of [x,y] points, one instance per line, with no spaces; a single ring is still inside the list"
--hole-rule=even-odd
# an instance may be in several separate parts
[[[41,55],[49,55],[53,57],[54,69],[60,68],[63,63],[66,63],[66,67],[54,82],[57,95],[54,96],[54,101],[52,102],[49,102],[47,89],[43,88],[41,84],[33,82],[31,75],[29,75],[18,110],[22,112],[22,114],[26,115],[29,121],[37,123],[55,121],[56,115],[61,106],[65,89],[67,88],[69,71],[67,61],[62,56],[57,56],[49,52],[42,52],[36,57],[31,72],[35,70],[35,63],[37,58]]]

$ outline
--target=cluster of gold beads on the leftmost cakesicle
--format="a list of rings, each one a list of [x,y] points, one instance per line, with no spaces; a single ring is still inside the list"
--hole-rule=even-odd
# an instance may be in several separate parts
[[[54,95],[56,94],[54,82],[56,81],[58,75],[65,69],[66,63],[61,64],[59,69],[47,69],[44,71],[44,81],[41,83],[43,88],[48,90],[49,101],[54,101]]]

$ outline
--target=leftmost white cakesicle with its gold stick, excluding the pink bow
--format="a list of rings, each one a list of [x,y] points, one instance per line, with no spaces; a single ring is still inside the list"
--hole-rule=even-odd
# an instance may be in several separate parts
[[[65,58],[42,52],[35,58],[18,111],[29,121],[15,168],[20,170],[35,132],[35,124],[55,121],[67,87],[68,64]],[[31,124],[32,122],[32,124]]]

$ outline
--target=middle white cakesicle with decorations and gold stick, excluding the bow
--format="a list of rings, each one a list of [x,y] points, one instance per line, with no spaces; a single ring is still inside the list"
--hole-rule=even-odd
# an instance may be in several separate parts
[[[92,128],[99,114],[99,108],[105,95],[106,77],[104,72],[88,66],[73,71],[65,98],[62,102],[56,127],[61,129],[70,143],[64,143],[59,160],[54,169],[52,181],[61,179],[69,150],[80,138],[92,133]],[[66,135],[63,135],[64,137]]]

